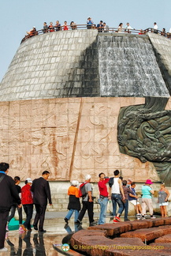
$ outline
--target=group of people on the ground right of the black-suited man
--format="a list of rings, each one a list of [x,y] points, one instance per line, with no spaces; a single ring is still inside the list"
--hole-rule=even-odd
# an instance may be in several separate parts
[[[151,186],[153,183],[151,179],[147,179],[145,184],[141,189],[142,203],[139,202],[139,196],[136,194],[136,183],[132,179],[123,180],[120,176],[120,171],[113,171],[114,177],[108,178],[104,173],[99,174],[99,199],[98,203],[100,205],[100,214],[98,223],[94,220],[93,213],[93,190],[91,186],[91,175],[86,175],[84,183],[81,183],[78,187],[78,181],[73,180],[71,186],[69,186],[69,212],[65,216],[66,224],[69,224],[69,220],[72,213],[75,213],[75,223],[82,224],[84,214],[88,213],[90,226],[95,226],[96,224],[106,223],[106,210],[109,201],[112,201],[113,210],[113,223],[121,221],[121,214],[125,211],[124,219],[128,221],[128,205],[129,203],[134,205],[136,210],[137,220],[143,220],[147,217],[147,209],[150,213],[150,218],[155,218],[153,211],[152,196],[154,194],[154,189]],[[109,191],[106,186],[109,183]],[[82,198],[82,208],[80,206],[80,200]],[[169,190],[165,188],[165,184],[162,183],[160,190],[158,191],[158,204],[161,209],[162,217],[167,216],[167,205],[169,198]],[[118,211],[117,211],[118,205]]]

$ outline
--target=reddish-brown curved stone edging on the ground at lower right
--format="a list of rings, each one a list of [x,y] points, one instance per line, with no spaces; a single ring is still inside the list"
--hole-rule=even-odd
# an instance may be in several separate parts
[[[91,256],[167,256],[171,247],[160,243],[159,237],[171,242],[170,224],[170,218],[158,218],[97,225],[73,234],[71,245]],[[154,239],[156,243],[143,243]]]

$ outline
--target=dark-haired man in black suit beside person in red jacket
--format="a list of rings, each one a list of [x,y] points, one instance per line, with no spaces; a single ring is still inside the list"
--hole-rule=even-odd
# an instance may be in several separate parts
[[[39,223],[39,232],[46,232],[43,229],[47,199],[49,204],[52,205],[51,195],[50,195],[50,185],[46,179],[49,178],[50,172],[43,171],[42,177],[39,179],[34,179],[32,182],[32,192],[33,192],[33,203],[35,204],[35,220],[33,222],[33,228],[38,230]]]

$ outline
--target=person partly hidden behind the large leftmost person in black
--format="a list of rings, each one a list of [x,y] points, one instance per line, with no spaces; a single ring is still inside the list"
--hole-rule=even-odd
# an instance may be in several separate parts
[[[15,176],[13,180],[14,180],[14,183],[15,183],[15,185],[16,185],[18,195],[19,195],[19,197],[20,197],[20,193],[21,193],[21,188],[20,188],[20,186],[19,186],[19,184],[20,184],[20,177]],[[10,215],[9,215],[8,221],[7,221],[6,230],[8,230],[8,225],[9,225],[10,220],[12,220],[13,217],[15,216],[16,209],[17,209],[17,211],[18,211],[18,216],[19,216],[19,226],[20,226],[20,227],[19,227],[19,231],[22,231],[22,229],[23,229],[23,228],[21,227],[21,225],[22,225],[22,223],[23,223],[22,207],[19,208],[18,205],[17,205],[17,203],[13,201],[13,205],[11,206]]]

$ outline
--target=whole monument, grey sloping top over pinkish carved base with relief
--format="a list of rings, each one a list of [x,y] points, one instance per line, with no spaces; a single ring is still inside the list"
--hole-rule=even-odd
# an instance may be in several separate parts
[[[97,182],[114,169],[170,186],[170,92],[164,36],[95,29],[33,36],[0,84],[1,160],[22,180],[47,169],[57,187],[85,174]]]

